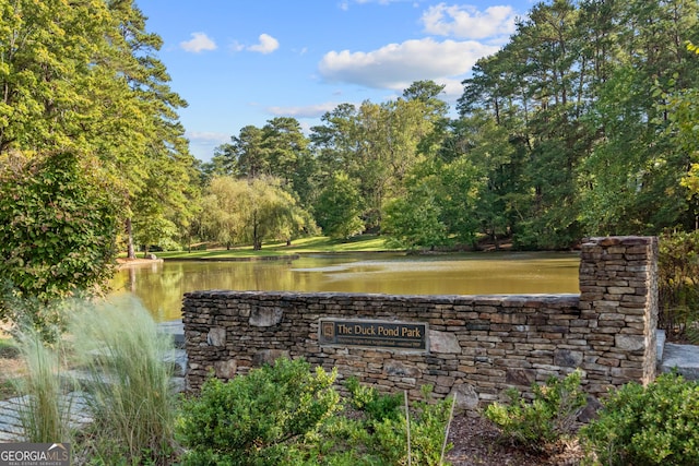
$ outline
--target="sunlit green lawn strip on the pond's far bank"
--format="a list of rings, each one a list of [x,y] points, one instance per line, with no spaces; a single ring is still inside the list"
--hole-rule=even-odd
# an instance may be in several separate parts
[[[274,255],[288,255],[307,252],[377,252],[387,251],[386,239],[376,235],[363,235],[346,241],[330,239],[328,237],[301,238],[293,241],[292,246],[286,242],[274,242],[262,244],[262,250],[253,251],[251,246],[235,247],[230,250],[216,248],[205,251],[163,251],[156,252],[158,258],[179,259],[225,259],[225,258],[263,258]]]

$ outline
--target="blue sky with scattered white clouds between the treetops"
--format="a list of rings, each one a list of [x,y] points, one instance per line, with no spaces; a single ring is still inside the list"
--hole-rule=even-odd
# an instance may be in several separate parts
[[[192,154],[252,124],[294,117],[305,130],[339,104],[381,103],[418,80],[461,95],[475,61],[497,51],[531,0],[135,0],[180,110]]]

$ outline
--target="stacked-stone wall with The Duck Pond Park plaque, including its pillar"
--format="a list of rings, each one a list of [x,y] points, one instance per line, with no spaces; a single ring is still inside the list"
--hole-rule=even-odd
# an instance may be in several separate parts
[[[188,292],[187,381],[305,357],[384,392],[459,393],[465,408],[576,368],[601,396],[655,377],[656,255],[656,238],[587,239],[580,295]]]

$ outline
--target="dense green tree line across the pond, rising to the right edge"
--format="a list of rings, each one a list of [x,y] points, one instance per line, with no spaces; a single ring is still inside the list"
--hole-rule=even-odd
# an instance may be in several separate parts
[[[305,136],[246,127],[203,168],[273,176],[331,236],[395,244],[568,248],[588,235],[692,229],[699,57],[695,0],[554,0],[463,82],[343,104]]]

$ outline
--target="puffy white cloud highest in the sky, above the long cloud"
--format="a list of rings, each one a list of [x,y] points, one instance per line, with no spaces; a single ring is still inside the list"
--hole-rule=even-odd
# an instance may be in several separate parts
[[[514,32],[517,13],[512,7],[488,7],[478,11],[472,5],[439,3],[423,13],[425,32],[469,39],[508,37]]]

